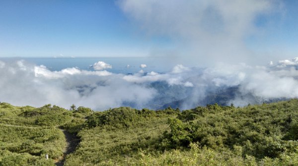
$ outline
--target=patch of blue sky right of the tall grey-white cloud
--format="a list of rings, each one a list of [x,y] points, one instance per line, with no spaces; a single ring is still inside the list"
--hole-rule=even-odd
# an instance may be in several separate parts
[[[257,49],[270,49],[277,45],[297,53],[298,48],[298,1],[281,0],[279,11],[258,16],[256,26],[264,32],[262,36],[252,37],[249,44]],[[298,56],[298,55],[297,55]]]

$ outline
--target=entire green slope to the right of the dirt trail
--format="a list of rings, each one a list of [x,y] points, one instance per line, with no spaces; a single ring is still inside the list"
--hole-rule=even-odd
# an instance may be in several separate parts
[[[210,105],[178,116],[157,114],[126,127],[86,127],[66,165],[296,166],[297,109],[298,100],[244,108]],[[180,120],[171,124],[170,117]]]

